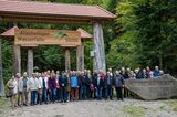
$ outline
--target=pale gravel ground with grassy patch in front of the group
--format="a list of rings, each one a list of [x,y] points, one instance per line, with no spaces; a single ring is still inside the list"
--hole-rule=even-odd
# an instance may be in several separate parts
[[[0,117],[177,117],[169,100],[80,100],[10,109]],[[177,102],[177,100],[176,100]]]

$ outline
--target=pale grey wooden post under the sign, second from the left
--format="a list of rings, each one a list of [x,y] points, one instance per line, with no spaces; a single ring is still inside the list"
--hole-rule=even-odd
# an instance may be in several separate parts
[[[27,70],[28,70],[28,76],[32,77],[32,73],[33,73],[33,49],[28,49]]]

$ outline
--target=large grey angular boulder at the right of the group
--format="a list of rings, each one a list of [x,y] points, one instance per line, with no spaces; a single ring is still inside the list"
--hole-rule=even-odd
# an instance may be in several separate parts
[[[126,79],[125,87],[145,100],[177,97],[177,79],[169,74],[153,79]]]

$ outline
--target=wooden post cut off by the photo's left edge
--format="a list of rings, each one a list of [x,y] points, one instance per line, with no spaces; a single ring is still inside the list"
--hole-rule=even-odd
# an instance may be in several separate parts
[[[4,96],[4,85],[3,85],[3,76],[2,76],[2,39],[0,38],[0,96]]]

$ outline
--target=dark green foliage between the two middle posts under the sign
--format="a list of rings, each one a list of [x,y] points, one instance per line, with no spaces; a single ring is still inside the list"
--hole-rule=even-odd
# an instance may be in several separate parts
[[[64,53],[58,45],[41,45],[34,51],[34,65],[41,71],[64,70]]]

